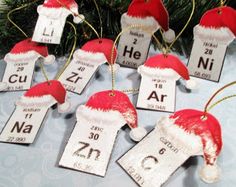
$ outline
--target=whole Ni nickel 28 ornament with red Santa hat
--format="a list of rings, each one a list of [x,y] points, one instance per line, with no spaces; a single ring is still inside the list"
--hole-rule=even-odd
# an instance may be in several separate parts
[[[194,27],[188,62],[190,75],[219,82],[227,46],[235,39],[236,11],[231,7],[208,10]]]

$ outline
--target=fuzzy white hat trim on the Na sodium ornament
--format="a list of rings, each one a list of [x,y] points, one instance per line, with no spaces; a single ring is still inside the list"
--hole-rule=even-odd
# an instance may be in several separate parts
[[[22,96],[16,105],[20,106],[47,106],[50,104],[55,104],[57,101],[51,95],[44,95],[41,97],[26,97]]]

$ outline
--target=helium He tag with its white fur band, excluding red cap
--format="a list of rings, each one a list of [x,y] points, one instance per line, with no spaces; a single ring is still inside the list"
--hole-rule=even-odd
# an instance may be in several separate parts
[[[125,30],[135,24],[140,25],[140,28]],[[117,63],[130,68],[138,68],[145,62],[152,33],[159,27],[152,17],[133,18],[126,13],[121,17],[121,26],[125,32],[120,37]]]

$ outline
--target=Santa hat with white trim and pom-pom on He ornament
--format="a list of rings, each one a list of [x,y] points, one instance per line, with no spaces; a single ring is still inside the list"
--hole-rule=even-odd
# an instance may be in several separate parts
[[[165,31],[163,36],[166,42],[170,43],[175,39],[174,31],[169,29],[169,14],[162,0],[133,0],[122,19],[131,25],[146,26],[155,23],[158,25],[157,29],[161,27]]]

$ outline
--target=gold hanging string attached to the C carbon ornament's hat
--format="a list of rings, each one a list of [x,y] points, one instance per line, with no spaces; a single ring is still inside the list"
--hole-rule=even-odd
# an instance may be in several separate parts
[[[230,86],[233,86],[233,85],[236,85],[236,81],[231,82],[231,83],[229,83],[229,84],[226,84],[225,86],[223,86],[222,88],[220,88],[218,91],[216,91],[216,92],[212,95],[212,97],[209,99],[209,101],[208,101],[208,102],[206,103],[206,105],[205,105],[205,108],[204,108],[204,116],[203,116],[204,118],[206,117],[207,112],[208,112],[209,110],[211,110],[213,107],[215,107],[216,105],[218,105],[219,103],[221,103],[221,102],[223,102],[223,101],[225,101],[225,100],[227,100],[227,99],[236,97],[236,94],[233,94],[233,95],[230,95],[230,96],[226,96],[226,97],[223,97],[222,99],[216,101],[216,102],[213,103],[212,105],[210,105],[211,102],[212,102],[212,100],[216,97],[217,94],[219,94],[219,93],[220,93],[221,91],[223,91],[224,89],[226,89],[226,88],[228,88],[228,87],[230,87]],[[209,105],[210,105],[210,106],[209,106]]]

